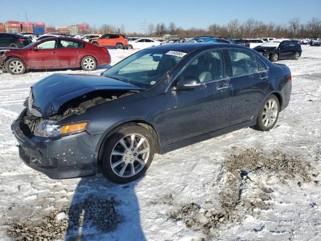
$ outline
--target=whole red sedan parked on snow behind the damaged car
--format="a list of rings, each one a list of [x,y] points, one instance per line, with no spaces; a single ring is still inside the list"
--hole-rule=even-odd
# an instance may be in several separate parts
[[[91,71],[111,61],[105,47],[68,37],[46,38],[22,49],[8,49],[0,56],[0,68],[11,74],[23,74],[27,69],[72,67]]]

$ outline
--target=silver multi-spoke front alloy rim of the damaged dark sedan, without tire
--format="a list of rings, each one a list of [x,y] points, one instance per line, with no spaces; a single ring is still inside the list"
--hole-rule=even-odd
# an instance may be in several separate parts
[[[112,149],[111,169],[119,177],[132,177],[144,168],[149,152],[149,143],[144,136],[126,135]]]

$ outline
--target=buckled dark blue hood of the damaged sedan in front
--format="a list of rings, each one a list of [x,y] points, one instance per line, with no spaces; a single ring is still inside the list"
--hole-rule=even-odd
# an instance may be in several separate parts
[[[95,90],[143,90],[130,83],[97,75],[53,74],[31,86],[29,111],[35,116],[56,114],[69,100]]]

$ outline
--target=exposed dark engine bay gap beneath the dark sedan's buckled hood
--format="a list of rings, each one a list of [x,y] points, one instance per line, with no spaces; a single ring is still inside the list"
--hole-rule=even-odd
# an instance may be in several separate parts
[[[66,116],[82,114],[88,108],[138,92],[140,92],[140,90],[96,90],[67,101],[60,106],[57,114],[43,117],[35,116],[29,111],[27,98],[24,102],[24,106],[27,110],[22,116],[25,127],[21,127],[21,129],[26,136],[31,136],[35,127],[42,121],[60,121]]]

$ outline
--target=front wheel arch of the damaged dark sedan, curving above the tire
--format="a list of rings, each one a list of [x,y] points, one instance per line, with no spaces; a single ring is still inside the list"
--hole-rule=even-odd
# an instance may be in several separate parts
[[[112,133],[115,129],[124,126],[126,124],[130,124],[130,123],[134,123],[137,124],[145,129],[147,129],[148,131],[150,131],[151,135],[153,136],[153,139],[155,141],[155,153],[160,153],[161,152],[161,138],[159,137],[159,133],[158,131],[155,129],[154,125],[152,125],[150,122],[147,122],[143,119],[133,119],[131,121],[126,121],[123,123],[118,123],[116,126],[113,126],[111,129],[107,130],[107,132],[105,132],[102,137],[100,138],[100,141],[97,145],[97,152],[98,156],[97,156],[97,163],[101,161],[102,155],[103,155],[103,146],[105,145],[106,141],[108,140],[108,138],[110,137],[110,133]]]

